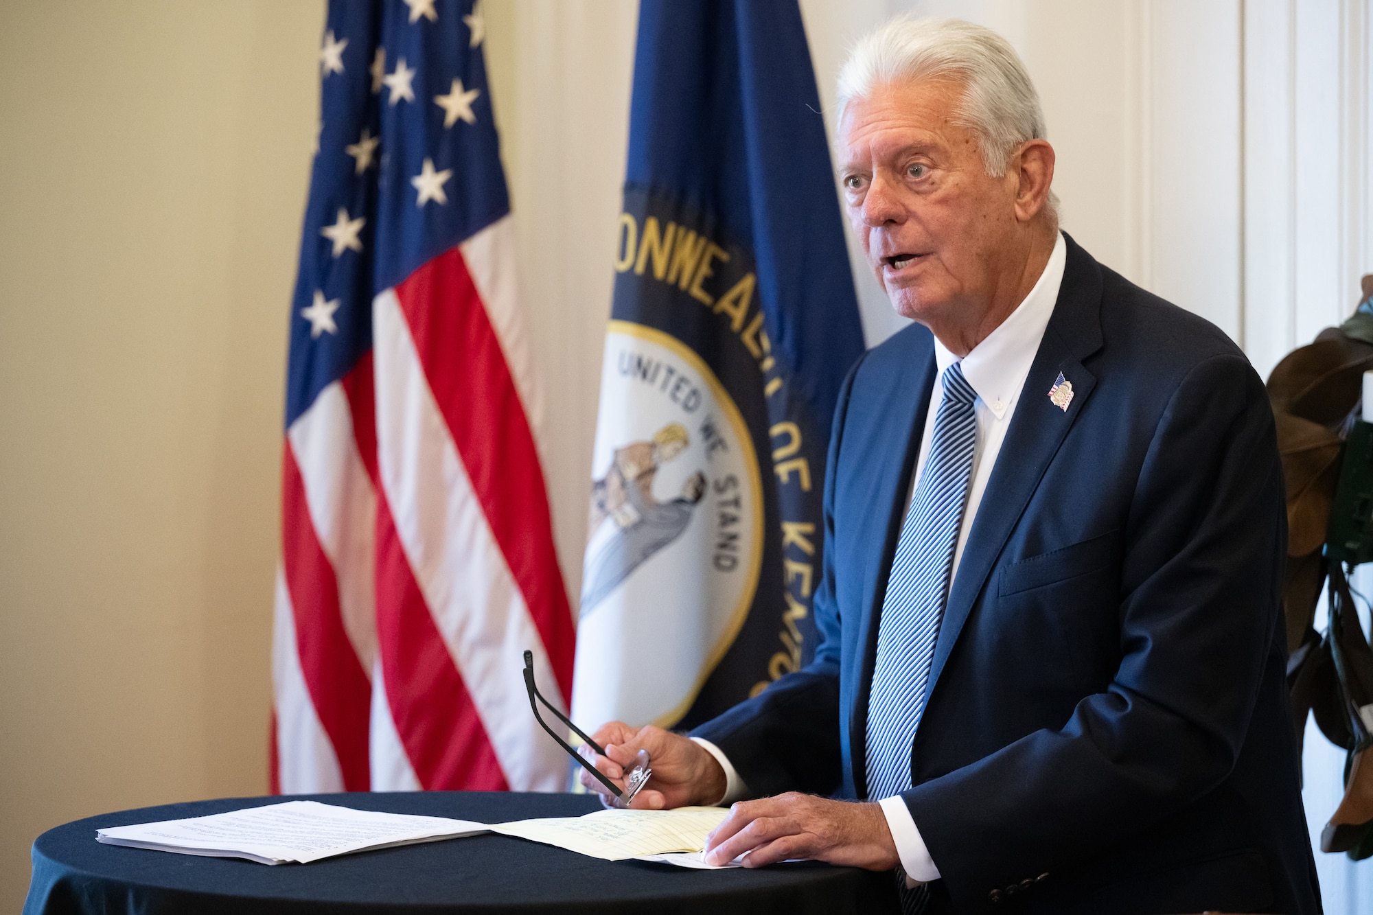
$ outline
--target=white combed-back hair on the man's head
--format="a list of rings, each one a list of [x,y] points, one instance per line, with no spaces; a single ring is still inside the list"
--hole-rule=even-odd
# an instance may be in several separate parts
[[[978,135],[987,174],[1006,173],[1011,154],[1045,139],[1043,109],[1011,43],[962,19],[899,16],[854,45],[839,71],[839,118],[883,85],[950,80],[962,85],[957,122]],[[1049,206],[1057,209],[1050,194]]]

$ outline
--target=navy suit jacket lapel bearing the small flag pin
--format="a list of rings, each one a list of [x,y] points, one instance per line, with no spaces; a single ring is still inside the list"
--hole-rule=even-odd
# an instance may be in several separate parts
[[[949,592],[930,668],[927,688],[931,697],[993,563],[1096,386],[1096,376],[1081,360],[1101,346],[1101,272],[1071,238],[1067,245],[1068,261],[1053,317],[1020,392]],[[1072,400],[1065,411],[1049,400],[1059,372],[1072,383]],[[890,566],[890,556],[887,562]]]

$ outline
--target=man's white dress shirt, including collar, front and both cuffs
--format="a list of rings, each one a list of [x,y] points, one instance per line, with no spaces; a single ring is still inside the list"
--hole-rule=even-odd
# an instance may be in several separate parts
[[[1011,418],[1016,412],[1016,403],[1020,400],[1020,389],[1024,387],[1030,365],[1035,353],[1039,352],[1039,341],[1049,326],[1053,306],[1059,301],[1059,287],[1063,284],[1063,268],[1068,260],[1068,246],[1063,235],[1054,240],[1053,253],[1043,268],[1043,273],[1035,282],[1034,289],[1024,301],[1011,312],[1006,320],[987,334],[986,339],[972,348],[962,357],[962,376],[975,392],[978,392],[978,440],[972,452],[972,479],[968,485],[968,504],[962,511],[962,526],[958,529],[958,544],[953,552],[953,569],[949,581],[953,583],[958,574],[958,562],[962,559],[962,550],[968,543],[968,532],[978,517],[978,506],[982,504],[982,495],[987,490],[987,479],[997,464],[1001,453],[1001,442],[1006,438],[1006,429],[1011,427]],[[930,440],[935,431],[935,416],[939,412],[939,401],[943,398],[943,372],[958,361],[958,357],[949,352],[943,343],[935,338],[935,374],[934,390],[930,392],[930,405],[925,408],[925,427],[920,437],[920,458],[910,478],[906,493],[906,504],[916,492],[916,484],[925,467],[925,458],[930,455]],[[1048,396],[1048,389],[1045,394]],[[710,741],[692,738],[719,762],[725,769],[725,797],[721,804],[732,804],[748,794],[748,787],[729,760]],[[901,800],[901,795],[883,798],[881,812],[887,817],[887,828],[897,845],[897,855],[901,866],[906,871],[908,883],[928,882],[939,879],[939,868],[925,841],[920,837],[910,808]]]

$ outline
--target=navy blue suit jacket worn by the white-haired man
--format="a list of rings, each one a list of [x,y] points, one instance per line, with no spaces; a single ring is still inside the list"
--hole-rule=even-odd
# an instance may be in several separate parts
[[[850,372],[816,659],[695,731],[755,795],[866,797],[877,617],[934,374],[920,326]],[[1319,911],[1285,551],[1273,414],[1244,354],[1068,239],[910,747],[936,911]]]

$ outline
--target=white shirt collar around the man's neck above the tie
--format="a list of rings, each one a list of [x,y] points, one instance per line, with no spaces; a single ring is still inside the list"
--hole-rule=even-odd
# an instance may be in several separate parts
[[[1039,352],[1039,341],[1053,316],[1059,301],[1059,287],[1063,286],[1063,268],[1068,262],[1068,246],[1063,232],[1053,243],[1049,262],[1035,280],[1034,289],[1024,297],[1016,310],[1006,316],[986,339],[962,357],[962,376],[968,379],[978,398],[997,419],[1005,416],[1020,396],[1030,364]],[[939,378],[945,370],[958,361],[939,338],[935,338],[935,364]]]

